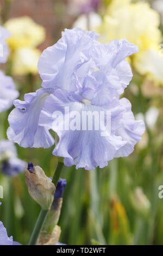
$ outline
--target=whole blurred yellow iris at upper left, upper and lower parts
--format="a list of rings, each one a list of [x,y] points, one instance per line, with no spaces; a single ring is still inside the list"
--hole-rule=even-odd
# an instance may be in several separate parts
[[[36,46],[45,40],[45,28],[28,16],[10,19],[5,22],[4,27],[11,32],[8,44],[11,48],[12,74],[37,74],[37,62],[41,52]]]

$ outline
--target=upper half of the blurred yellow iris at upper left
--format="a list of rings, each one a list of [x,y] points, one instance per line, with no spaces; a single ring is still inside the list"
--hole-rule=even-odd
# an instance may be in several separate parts
[[[8,39],[11,50],[20,47],[36,47],[45,40],[45,28],[28,16],[10,19],[5,22],[4,27],[11,32]]]

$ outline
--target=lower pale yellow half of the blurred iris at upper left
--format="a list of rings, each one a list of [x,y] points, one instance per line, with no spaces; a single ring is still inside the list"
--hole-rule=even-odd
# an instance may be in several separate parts
[[[12,55],[12,74],[37,74],[37,62],[40,54],[40,50],[36,48],[21,47],[17,49]]]

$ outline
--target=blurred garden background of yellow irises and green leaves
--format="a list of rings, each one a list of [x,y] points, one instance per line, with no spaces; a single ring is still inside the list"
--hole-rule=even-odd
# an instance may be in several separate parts
[[[59,225],[68,245],[162,245],[163,198],[163,1],[0,0],[0,22],[11,32],[10,56],[1,65],[24,93],[41,86],[37,60],[65,28],[101,34],[101,42],[127,38],[140,48],[129,58],[133,80],[123,96],[131,101],[146,132],[134,153],[95,171],[64,167],[67,179]],[[57,60],[56,60],[57,61]],[[0,84],[1,87],[1,84]],[[8,111],[0,113],[1,139],[7,139]],[[18,158],[52,176],[58,159],[53,148],[17,147]],[[29,196],[24,174],[0,173],[4,188],[0,220],[14,240],[27,244],[40,206]]]

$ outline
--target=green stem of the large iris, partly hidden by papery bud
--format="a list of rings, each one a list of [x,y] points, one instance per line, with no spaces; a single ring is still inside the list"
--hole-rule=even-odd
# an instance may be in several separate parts
[[[54,183],[55,187],[57,186],[58,180],[60,178],[60,174],[62,171],[62,167],[64,166],[64,163],[58,163],[57,169],[55,170],[54,176],[53,176],[53,180],[52,182]],[[33,229],[33,233],[30,237],[29,243],[28,245],[36,245],[37,239],[40,235],[40,232],[42,230],[43,227],[43,223],[46,220],[46,217],[48,215],[49,210],[43,210],[41,209],[39,217],[37,218],[35,227]]]

